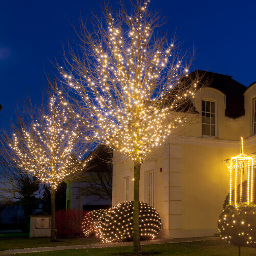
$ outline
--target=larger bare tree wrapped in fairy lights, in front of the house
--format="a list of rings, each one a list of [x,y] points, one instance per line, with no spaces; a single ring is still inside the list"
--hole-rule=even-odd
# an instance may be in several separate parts
[[[121,3],[112,16],[109,6],[102,17],[93,16],[93,30],[80,22],[77,52],[64,54],[59,70],[69,90],[59,93],[67,111],[91,132],[86,140],[106,144],[134,161],[134,252],[142,253],[139,233],[140,166],[153,148],[169,140],[194,110],[200,78],[188,75],[191,58],[181,55],[173,39],[158,37],[158,13],[150,1]],[[193,54],[194,55],[194,54]],[[65,96],[66,95],[66,96]],[[72,105],[70,105],[72,103]]]

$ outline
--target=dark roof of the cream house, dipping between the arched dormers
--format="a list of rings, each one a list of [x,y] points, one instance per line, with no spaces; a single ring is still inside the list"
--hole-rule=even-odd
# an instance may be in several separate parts
[[[232,76],[202,70],[194,72],[204,76],[201,82],[210,81],[208,87],[217,89],[226,95],[225,116],[238,118],[245,114],[244,92],[247,88],[243,84],[232,79]],[[190,75],[193,75],[194,72],[190,73]]]

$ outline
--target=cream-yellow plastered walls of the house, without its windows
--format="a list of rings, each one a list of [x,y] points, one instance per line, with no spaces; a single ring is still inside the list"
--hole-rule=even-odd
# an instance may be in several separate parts
[[[217,220],[229,193],[226,159],[240,154],[241,137],[244,153],[256,152],[253,135],[252,99],[256,83],[245,93],[245,115],[236,119],[225,116],[226,96],[213,88],[197,94],[194,105],[199,114],[191,114],[189,122],[176,130],[163,146],[156,148],[150,159],[142,163],[140,200],[146,202],[145,174],[154,171],[154,207],[162,220],[160,236],[172,238],[211,236],[217,233]],[[201,100],[216,102],[216,136],[202,136]],[[181,135],[175,138],[175,135]],[[160,172],[162,168],[162,172]],[[113,200],[123,200],[123,178],[133,174],[133,162],[117,152],[113,158]],[[133,182],[130,186],[133,200]]]

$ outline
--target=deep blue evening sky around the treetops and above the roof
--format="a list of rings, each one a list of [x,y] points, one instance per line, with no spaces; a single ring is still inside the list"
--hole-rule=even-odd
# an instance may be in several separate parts
[[[77,40],[69,22],[97,13],[100,2],[0,0],[0,127],[27,96],[40,102],[50,61],[61,61],[62,44]],[[182,49],[197,47],[190,71],[230,75],[245,86],[256,80],[256,1],[152,0],[151,8],[167,18],[169,38],[176,31]]]

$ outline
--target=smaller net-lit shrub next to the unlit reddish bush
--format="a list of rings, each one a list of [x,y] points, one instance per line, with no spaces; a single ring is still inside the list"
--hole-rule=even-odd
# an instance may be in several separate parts
[[[84,236],[101,238],[101,219],[105,211],[104,209],[89,211],[83,217],[82,231]]]

